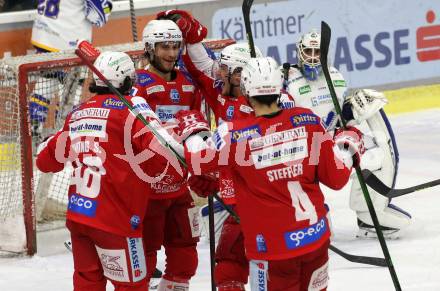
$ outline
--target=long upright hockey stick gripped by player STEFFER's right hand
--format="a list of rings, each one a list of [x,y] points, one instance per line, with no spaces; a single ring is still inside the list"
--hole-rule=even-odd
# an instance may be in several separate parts
[[[330,90],[330,95],[332,97],[333,105],[335,106],[336,112],[338,113],[342,126],[344,128],[347,127],[347,121],[342,116],[342,110],[341,106],[339,105],[338,98],[335,92],[335,88],[333,86],[332,79],[330,77],[330,72],[328,69],[328,63],[327,63],[327,57],[328,57],[328,50],[330,46],[330,39],[331,39],[331,29],[330,26],[322,21],[321,22],[321,46],[320,46],[320,61],[321,61],[321,67],[322,71],[325,75],[325,80],[327,81],[327,86]],[[391,278],[393,280],[394,287],[396,291],[402,290],[400,287],[399,279],[397,277],[396,270],[394,269],[393,261],[391,260],[391,255],[388,251],[388,246],[385,242],[385,238],[383,236],[382,230],[380,229],[379,220],[377,219],[376,211],[373,207],[373,202],[371,201],[370,194],[368,193],[367,185],[365,184],[364,177],[362,176],[362,172],[359,166],[356,167],[356,174],[359,180],[359,183],[362,188],[362,192],[364,193],[365,201],[367,202],[368,211],[370,212],[371,219],[373,220],[374,228],[376,229],[377,237],[379,239],[380,246],[382,248],[383,254],[385,256],[385,260],[388,266],[388,269],[390,271]]]

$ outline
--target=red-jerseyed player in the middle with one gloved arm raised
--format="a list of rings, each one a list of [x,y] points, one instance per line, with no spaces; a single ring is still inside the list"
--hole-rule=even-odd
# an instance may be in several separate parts
[[[247,43],[229,45],[221,51],[219,59],[214,60],[202,43],[207,29],[188,12],[168,10],[159,13],[158,17],[173,19],[182,30],[186,48],[186,53],[182,55],[185,68],[194,83],[202,90],[207,104],[215,115],[217,125],[224,121],[241,120],[252,116],[254,111],[240,88],[241,70],[251,58],[249,45]],[[258,48],[256,53],[258,57],[262,56]],[[218,185],[223,202],[239,212],[234,207],[235,189],[232,173],[228,169],[219,172],[218,180],[211,176],[191,176],[189,185],[202,197],[212,194],[211,189],[215,189]],[[229,216],[221,228],[215,255],[215,281],[219,291],[244,290],[247,284],[249,264],[243,242],[240,225]]]

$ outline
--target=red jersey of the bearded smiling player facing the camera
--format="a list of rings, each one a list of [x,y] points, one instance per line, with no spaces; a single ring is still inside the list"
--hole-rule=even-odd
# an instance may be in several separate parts
[[[167,128],[174,128],[175,114],[180,110],[200,111],[200,91],[179,70],[174,70],[172,81],[166,81],[147,69],[137,71],[137,82],[130,95],[144,98]],[[171,172],[162,173],[164,178],[151,183],[151,199],[168,199],[188,191],[186,179]]]

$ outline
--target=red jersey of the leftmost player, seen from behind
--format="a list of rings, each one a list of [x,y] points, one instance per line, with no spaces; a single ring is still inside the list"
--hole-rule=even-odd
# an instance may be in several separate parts
[[[137,101],[138,112],[149,109],[143,99]],[[148,183],[169,163],[168,156],[149,150],[154,145],[157,140],[123,102],[114,95],[96,95],[70,113],[63,128],[41,146],[37,167],[58,172],[72,165],[67,219],[141,237]],[[139,160],[141,153],[146,160]]]

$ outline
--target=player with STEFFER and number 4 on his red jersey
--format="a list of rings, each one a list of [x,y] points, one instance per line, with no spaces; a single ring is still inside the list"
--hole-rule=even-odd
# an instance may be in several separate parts
[[[280,109],[282,74],[272,58],[251,59],[241,86],[255,117],[223,123],[206,142],[202,116],[178,113],[190,172],[233,172],[251,290],[326,290],[330,231],[319,183],[346,184],[360,162],[360,133],[333,139],[312,111]]]

